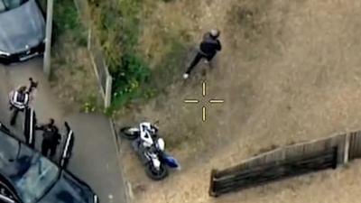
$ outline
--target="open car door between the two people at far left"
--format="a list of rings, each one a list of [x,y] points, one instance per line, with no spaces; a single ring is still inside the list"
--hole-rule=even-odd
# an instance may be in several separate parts
[[[25,109],[25,119],[23,121],[23,135],[25,136],[25,142],[34,148],[36,115],[32,108]]]

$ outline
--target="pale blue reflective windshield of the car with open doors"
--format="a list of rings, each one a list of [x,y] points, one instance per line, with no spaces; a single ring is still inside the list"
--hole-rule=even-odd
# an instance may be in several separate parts
[[[18,161],[22,170],[10,179],[24,203],[35,202],[58,179],[60,170],[39,152],[32,157],[20,157]]]

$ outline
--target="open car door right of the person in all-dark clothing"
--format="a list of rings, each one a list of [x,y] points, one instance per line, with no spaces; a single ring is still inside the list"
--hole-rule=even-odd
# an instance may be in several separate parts
[[[60,167],[66,169],[71,157],[71,152],[74,146],[74,132],[71,130],[68,122],[64,123],[66,129],[65,142],[61,146],[61,156],[60,156]]]

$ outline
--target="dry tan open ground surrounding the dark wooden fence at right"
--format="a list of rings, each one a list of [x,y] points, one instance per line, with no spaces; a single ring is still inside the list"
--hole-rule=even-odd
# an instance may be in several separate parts
[[[174,12],[187,2],[167,6]],[[208,198],[208,172],[271,145],[361,128],[360,8],[344,0],[202,1],[194,20],[200,27],[191,34],[222,31],[224,50],[206,79],[209,94],[226,103],[210,109],[202,123],[200,108],[182,103],[200,97],[200,79],[193,78],[124,118],[122,123],[160,119],[172,153],[184,162],[183,171],[160,183],[130,165],[137,202],[357,202],[359,162],[218,199]],[[184,139],[192,143],[180,143]]]

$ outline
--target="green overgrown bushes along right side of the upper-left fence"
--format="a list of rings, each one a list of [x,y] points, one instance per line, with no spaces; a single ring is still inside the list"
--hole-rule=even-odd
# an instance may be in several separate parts
[[[142,0],[123,0],[115,6],[109,1],[88,0],[97,35],[113,76],[112,106],[124,106],[136,97],[143,97],[144,84],[150,69],[136,51],[139,36],[139,14]]]

